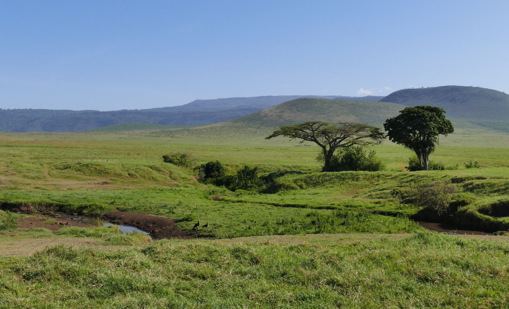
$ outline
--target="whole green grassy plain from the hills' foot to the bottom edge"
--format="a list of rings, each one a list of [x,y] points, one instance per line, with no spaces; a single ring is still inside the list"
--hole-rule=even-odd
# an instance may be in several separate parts
[[[453,219],[506,229],[509,214],[497,213],[509,209],[503,143],[482,148],[441,141],[432,160],[459,169],[427,172],[404,171],[411,152],[386,143],[374,147],[386,171],[322,173],[315,146],[259,138],[240,146],[220,139],[193,144],[155,136],[172,131],[2,134],[4,206],[94,215],[117,208],[169,217],[185,229],[197,218],[210,226],[197,240],[147,246],[105,228],[6,229],[0,249],[16,240],[64,245],[0,259],[0,307],[507,306],[507,237],[425,232],[407,218],[421,210],[405,202],[415,182],[452,180],[459,190]],[[192,153],[196,164],[219,160],[232,173],[258,166],[273,180],[252,192],[204,185],[191,169],[162,162],[171,151]],[[470,160],[483,168],[463,168]],[[95,245],[72,248],[65,245],[69,239]]]

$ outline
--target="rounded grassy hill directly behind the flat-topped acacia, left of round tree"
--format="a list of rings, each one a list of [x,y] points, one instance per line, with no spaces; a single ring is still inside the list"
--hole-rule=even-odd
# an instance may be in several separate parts
[[[322,98],[298,98],[283,102],[260,112],[228,121],[182,130],[161,130],[147,133],[147,137],[171,138],[197,143],[256,144],[281,125],[321,120],[361,122],[382,126],[383,122],[405,106],[390,102],[344,101]]]

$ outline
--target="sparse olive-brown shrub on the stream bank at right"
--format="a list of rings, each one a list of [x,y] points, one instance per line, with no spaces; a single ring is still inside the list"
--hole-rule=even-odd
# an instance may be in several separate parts
[[[456,186],[448,182],[425,181],[412,186],[410,198],[416,206],[428,208],[442,217],[449,210],[449,203],[454,192],[456,192]]]

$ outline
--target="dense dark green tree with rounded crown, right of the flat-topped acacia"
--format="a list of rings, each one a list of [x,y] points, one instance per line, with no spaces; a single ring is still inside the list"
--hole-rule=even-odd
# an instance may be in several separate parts
[[[443,109],[434,106],[407,107],[383,126],[389,140],[415,151],[421,170],[428,170],[438,136],[454,132],[453,123],[444,114]]]

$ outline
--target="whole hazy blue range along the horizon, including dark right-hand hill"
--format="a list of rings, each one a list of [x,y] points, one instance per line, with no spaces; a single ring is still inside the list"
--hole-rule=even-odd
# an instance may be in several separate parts
[[[385,115],[380,107],[379,111],[371,110],[377,106],[366,102],[389,102],[404,106],[432,105],[443,108],[450,119],[468,121],[471,124],[509,133],[509,95],[500,91],[479,87],[466,86],[440,86],[430,88],[403,89],[395,91],[385,97],[365,96],[310,96],[310,95],[279,95],[258,97],[219,98],[213,100],[194,100],[188,104],[175,107],[154,108],[145,110],[121,111],[70,111],[70,110],[0,110],[0,131],[3,132],[77,132],[110,126],[101,130],[126,130],[130,125],[113,126],[120,123],[144,122],[159,125],[209,125],[239,117],[258,117],[263,111],[264,119],[276,125],[289,123],[291,113],[299,114],[298,110],[278,112],[279,114],[266,114],[281,103],[312,102],[313,98],[326,101],[348,101],[348,113],[355,121],[367,119],[362,115],[362,107],[370,108],[369,113],[380,116]],[[295,101],[297,100],[297,101]],[[356,103],[357,102],[357,103]],[[313,111],[301,116],[313,116],[323,119],[340,119],[332,117],[330,113],[336,105],[322,102],[314,106],[322,106],[321,112]],[[331,105],[332,104],[332,105]],[[335,103],[336,104],[336,103]],[[327,110],[327,108],[332,108]],[[305,108],[300,107],[300,110]],[[355,110],[355,113],[353,112]],[[253,114],[254,113],[254,114]],[[252,115],[250,115],[252,114]],[[344,114],[346,115],[346,114]],[[279,117],[279,118],[278,118]],[[332,118],[331,118],[332,117]],[[364,117],[364,118],[363,118]],[[371,116],[370,116],[371,117]],[[349,118],[349,119],[350,119]],[[242,118],[247,119],[247,118]],[[261,118],[260,118],[261,119]],[[279,119],[279,120],[278,120]],[[323,120],[322,119],[322,120]],[[341,118],[343,119],[343,118]],[[235,121],[239,121],[239,119]],[[316,120],[316,119],[315,119]],[[332,121],[332,120],[327,120]],[[335,120],[334,120],[335,121]],[[350,120],[348,120],[350,121]],[[354,121],[354,120],[351,120]],[[378,120],[377,120],[378,121]],[[131,124],[132,125],[132,124]],[[282,124],[281,124],[282,125]],[[136,124],[133,127],[144,127]],[[148,128],[149,126],[147,126]],[[186,129],[187,130],[187,129]]]

